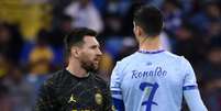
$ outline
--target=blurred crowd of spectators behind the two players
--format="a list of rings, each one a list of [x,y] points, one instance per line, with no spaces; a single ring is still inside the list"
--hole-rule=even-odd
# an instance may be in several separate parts
[[[0,0],[0,110],[31,111],[42,82],[65,67],[74,27],[99,33],[98,71],[109,81],[115,62],[137,51],[133,12],[144,3],[163,11],[162,47],[190,60],[209,111],[221,111],[220,0]]]

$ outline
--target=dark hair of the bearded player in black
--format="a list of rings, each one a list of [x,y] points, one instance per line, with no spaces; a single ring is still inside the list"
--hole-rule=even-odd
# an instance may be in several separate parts
[[[97,32],[87,27],[74,29],[68,35],[65,36],[65,54],[69,56],[71,46],[81,46],[86,35],[97,36]]]

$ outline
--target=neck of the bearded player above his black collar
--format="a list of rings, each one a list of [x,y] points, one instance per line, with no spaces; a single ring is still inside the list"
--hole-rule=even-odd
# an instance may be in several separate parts
[[[66,67],[66,69],[68,71],[70,71],[71,75],[76,76],[76,77],[87,77],[88,73],[86,69],[84,69],[78,60],[71,59],[68,64],[68,66]]]

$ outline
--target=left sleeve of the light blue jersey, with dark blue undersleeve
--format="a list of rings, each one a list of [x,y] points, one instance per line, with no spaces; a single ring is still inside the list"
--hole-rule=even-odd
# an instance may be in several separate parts
[[[120,63],[118,62],[115,67],[113,68],[110,81],[110,89],[112,96],[112,102],[114,106],[114,110],[124,111],[124,103],[122,97],[121,81],[122,81],[122,68]]]

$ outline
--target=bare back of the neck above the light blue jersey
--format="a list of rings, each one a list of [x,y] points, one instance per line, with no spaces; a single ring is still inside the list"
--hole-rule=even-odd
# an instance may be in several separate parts
[[[140,40],[140,49],[144,51],[158,51],[161,49],[161,41],[159,37],[148,37]]]

